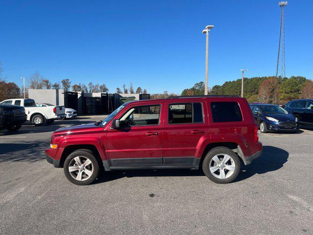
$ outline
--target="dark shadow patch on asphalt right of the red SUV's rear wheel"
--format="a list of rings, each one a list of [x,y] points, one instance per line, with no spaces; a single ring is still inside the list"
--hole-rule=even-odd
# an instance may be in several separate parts
[[[251,164],[242,164],[241,172],[234,182],[246,180],[255,174],[265,174],[275,171],[284,166],[288,161],[289,153],[274,146],[263,146],[262,156],[255,159]]]

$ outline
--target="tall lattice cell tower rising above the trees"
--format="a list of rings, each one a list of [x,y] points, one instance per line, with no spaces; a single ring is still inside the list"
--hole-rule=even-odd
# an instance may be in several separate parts
[[[279,31],[279,45],[278,45],[278,57],[276,67],[276,77],[286,76],[285,68],[285,12],[284,7],[287,6],[287,1],[280,1],[279,6],[282,9],[280,15],[280,31]]]

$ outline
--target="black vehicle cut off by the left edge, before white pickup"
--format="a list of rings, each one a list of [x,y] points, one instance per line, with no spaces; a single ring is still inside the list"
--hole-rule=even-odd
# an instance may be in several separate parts
[[[26,119],[27,115],[23,107],[0,104],[0,130],[17,131]]]

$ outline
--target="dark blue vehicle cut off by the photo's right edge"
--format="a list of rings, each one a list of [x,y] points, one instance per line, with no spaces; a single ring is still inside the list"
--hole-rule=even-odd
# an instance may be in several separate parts
[[[303,126],[313,126],[313,99],[295,99],[282,106]]]

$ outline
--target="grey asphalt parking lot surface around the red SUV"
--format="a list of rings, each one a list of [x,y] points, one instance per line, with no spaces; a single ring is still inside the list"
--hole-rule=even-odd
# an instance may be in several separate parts
[[[313,130],[261,134],[262,158],[228,185],[194,170],[102,174],[76,186],[45,161],[54,130],[0,132],[0,234],[313,234]]]

